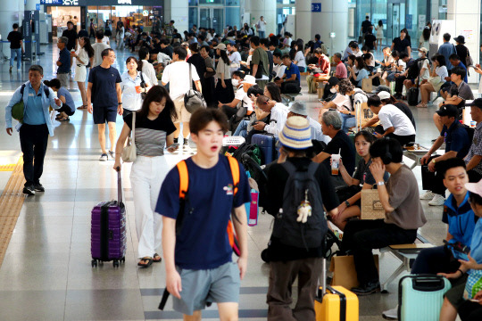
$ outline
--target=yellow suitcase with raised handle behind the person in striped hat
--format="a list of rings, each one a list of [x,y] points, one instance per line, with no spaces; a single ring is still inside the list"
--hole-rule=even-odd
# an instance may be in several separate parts
[[[317,321],[352,321],[359,318],[356,294],[343,286],[327,285],[327,260],[324,258],[321,286],[315,299],[315,314]]]

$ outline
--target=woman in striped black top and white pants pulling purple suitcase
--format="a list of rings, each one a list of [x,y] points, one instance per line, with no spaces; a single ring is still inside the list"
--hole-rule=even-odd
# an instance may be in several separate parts
[[[124,119],[115,148],[113,169],[120,170],[120,155],[132,130],[133,116],[136,115],[134,128],[137,159],[130,170],[130,183],[134,196],[134,210],[137,228],[137,265],[148,268],[153,262],[161,262],[156,252],[161,247],[162,218],[154,209],[161,190],[162,181],[170,170],[165,157],[164,147],[168,152],[175,152],[172,119],[177,118],[174,103],[169,92],[162,86],[153,86],[145,96],[140,111],[134,111]]]

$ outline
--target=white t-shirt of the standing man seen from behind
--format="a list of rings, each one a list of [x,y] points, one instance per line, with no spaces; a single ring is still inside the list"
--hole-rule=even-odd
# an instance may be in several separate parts
[[[191,65],[191,77],[199,80],[195,66]],[[162,83],[169,83],[170,99],[178,99],[189,91],[189,63],[172,62],[166,66],[162,73]]]

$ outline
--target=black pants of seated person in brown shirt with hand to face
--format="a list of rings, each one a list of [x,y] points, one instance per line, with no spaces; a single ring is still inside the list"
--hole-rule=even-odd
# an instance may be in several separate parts
[[[352,220],[345,226],[341,247],[342,251],[353,251],[358,282],[363,286],[379,280],[372,249],[413,243],[416,238],[416,229],[406,230],[395,224],[386,224],[383,219]]]

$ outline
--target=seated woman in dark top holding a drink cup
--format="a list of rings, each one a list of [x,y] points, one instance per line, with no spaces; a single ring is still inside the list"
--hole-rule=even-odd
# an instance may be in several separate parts
[[[356,152],[362,158],[358,162],[358,166],[353,177],[345,169],[343,160],[340,160],[340,172],[347,187],[343,188],[342,193],[338,194],[340,205],[338,206],[338,214],[331,217],[331,221],[342,231],[345,229],[348,218],[359,217],[361,214],[362,189],[371,189],[375,185],[375,178],[371,175],[370,165],[370,146],[375,142],[375,137],[370,132],[362,130],[356,133],[354,137]],[[385,172],[384,182],[388,179],[388,173]],[[344,197],[345,196],[345,197]]]

